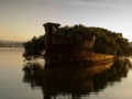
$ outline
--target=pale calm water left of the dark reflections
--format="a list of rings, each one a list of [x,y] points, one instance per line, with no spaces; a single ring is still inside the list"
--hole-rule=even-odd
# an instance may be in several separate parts
[[[0,50],[0,99],[43,99],[40,88],[23,82],[23,50]]]

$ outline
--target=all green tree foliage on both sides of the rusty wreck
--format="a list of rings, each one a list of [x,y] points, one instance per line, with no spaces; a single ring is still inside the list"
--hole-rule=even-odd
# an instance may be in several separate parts
[[[131,54],[131,47],[129,40],[124,38],[122,33],[116,33],[102,28],[87,28],[81,24],[74,26],[64,26],[58,29],[61,35],[70,36],[74,33],[89,33],[96,36],[94,52],[110,54],[116,56],[129,56]],[[23,56],[25,59],[34,59],[37,57],[44,57],[44,35],[40,37],[33,37],[31,41],[25,42],[25,52]]]

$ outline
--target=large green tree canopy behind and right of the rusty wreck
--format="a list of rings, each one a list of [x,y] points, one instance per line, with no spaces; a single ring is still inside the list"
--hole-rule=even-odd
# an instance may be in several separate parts
[[[87,28],[81,24],[59,28],[58,33],[72,36],[76,33],[89,33],[96,36],[94,52],[111,55],[129,55],[129,41],[122,33],[116,33],[102,28]]]

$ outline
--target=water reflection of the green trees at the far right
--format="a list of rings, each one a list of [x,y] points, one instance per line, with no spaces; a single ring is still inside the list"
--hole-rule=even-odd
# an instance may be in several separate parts
[[[121,78],[128,76],[129,67],[131,67],[131,62],[129,59],[118,61],[108,70],[102,72],[100,75],[92,77],[95,91],[98,92],[105,89],[108,85],[114,85],[114,81],[121,81]]]

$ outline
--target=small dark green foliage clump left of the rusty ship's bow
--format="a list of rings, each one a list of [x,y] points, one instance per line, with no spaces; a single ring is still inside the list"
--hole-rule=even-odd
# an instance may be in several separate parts
[[[24,46],[24,53],[23,57],[25,59],[35,59],[35,58],[43,58],[44,57],[44,50],[45,50],[45,43],[44,43],[44,35],[38,37],[33,37],[31,41],[25,42],[23,44]]]

